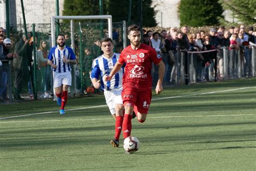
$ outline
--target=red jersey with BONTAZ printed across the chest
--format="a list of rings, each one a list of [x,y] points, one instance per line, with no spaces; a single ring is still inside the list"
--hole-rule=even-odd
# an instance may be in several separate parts
[[[124,64],[125,71],[123,85],[126,82],[140,82],[152,85],[151,68],[152,62],[158,64],[161,56],[150,46],[140,44],[139,49],[133,50],[127,46],[120,54],[119,63]]]

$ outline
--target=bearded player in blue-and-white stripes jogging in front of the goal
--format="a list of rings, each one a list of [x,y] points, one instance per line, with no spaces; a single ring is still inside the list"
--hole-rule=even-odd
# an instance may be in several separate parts
[[[59,113],[65,114],[64,107],[68,101],[68,88],[72,83],[70,64],[76,64],[77,60],[71,47],[65,46],[64,35],[58,35],[57,44],[49,52],[48,64],[51,65],[53,71],[53,87],[57,96],[57,104],[61,106]]]

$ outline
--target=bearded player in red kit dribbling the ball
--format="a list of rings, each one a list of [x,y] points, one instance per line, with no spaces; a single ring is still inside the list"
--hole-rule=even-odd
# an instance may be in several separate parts
[[[161,56],[152,47],[140,43],[141,35],[139,26],[135,24],[130,25],[127,33],[131,45],[122,51],[118,62],[114,65],[109,76],[105,78],[106,80],[111,80],[114,74],[126,63],[122,91],[125,107],[123,120],[124,138],[131,135],[133,108],[137,112],[139,122],[143,123],[146,120],[152,98],[152,62],[159,67],[156,94],[163,91],[162,83],[165,72],[165,65],[161,60]]]

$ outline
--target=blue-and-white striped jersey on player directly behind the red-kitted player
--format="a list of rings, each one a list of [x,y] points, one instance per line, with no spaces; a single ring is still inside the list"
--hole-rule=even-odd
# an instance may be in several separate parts
[[[116,74],[114,74],[110,81],[104,81],[105,76],[108,76],[110,74],[111,70],[114,67],[114,64],[117,63],[119,55],[119,53],[114,53],[111,58],[106,58],[104,57],[104,54],[102,54],[102,56],[99,56],[98,58],[93,60],[91,79],[99,79],[100,75],[100,84],[102,85],[101,87],[104,91],[122,87],[124,66],[122,66],[122,68]]]

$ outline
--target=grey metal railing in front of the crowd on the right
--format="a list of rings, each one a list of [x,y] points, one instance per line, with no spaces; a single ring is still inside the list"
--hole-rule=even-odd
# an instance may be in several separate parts
[[[212,54],[211,54],[212,53]],[[240,50],[223,47],[216,52],[174,52],[171,81],[176,84],[199,83],[255,77],[255,47]],[[186,72],[187,71],[187,72]]]

